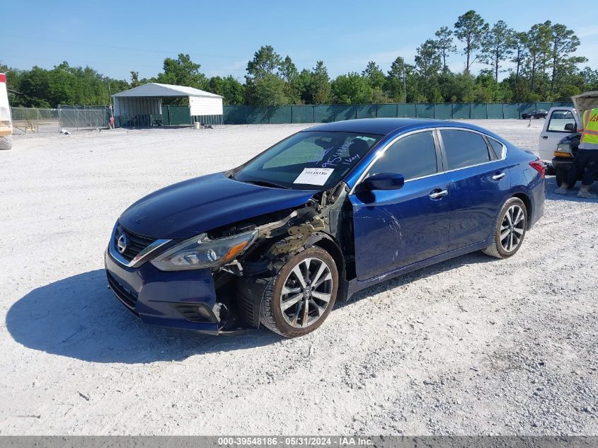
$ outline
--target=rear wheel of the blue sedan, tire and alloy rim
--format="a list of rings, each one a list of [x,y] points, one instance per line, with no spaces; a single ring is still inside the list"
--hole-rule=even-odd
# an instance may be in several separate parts
[[[482,252],[496,258],[512,257],[523,243],[526,227],[527,207],[519,197],[511,197],[498,214],[494,225],[493,243]]]

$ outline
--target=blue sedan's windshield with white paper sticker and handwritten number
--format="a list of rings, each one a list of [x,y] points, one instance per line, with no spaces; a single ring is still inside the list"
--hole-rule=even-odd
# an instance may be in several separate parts
[[[354,132],[299,132],[248,162],[235,178],[295,190],[326,190],[339,183],[381,138]]]

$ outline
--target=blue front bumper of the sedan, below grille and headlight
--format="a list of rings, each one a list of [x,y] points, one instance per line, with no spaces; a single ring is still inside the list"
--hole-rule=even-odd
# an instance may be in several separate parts
[[[108,287],[144,323],[219,333],[220,309],[210,270],[163,272],[151,263],[127,268],[108,250],[104,259]]]

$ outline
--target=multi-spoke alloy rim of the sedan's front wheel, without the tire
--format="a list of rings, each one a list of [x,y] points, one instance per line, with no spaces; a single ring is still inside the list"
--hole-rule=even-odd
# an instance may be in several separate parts
[[[280,310],[294,328],[306,328],[318,321],[332,298],[330,267],[319,258],[301,260],[284,280]]]

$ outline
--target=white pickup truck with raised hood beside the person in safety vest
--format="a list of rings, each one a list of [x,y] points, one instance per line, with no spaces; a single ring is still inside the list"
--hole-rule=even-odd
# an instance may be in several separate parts
[[[540,159],[547,164],[547,173],[556,175],[558,186],[563,183],[577,154],[581,137],[577,132],[577,128],[581,128],[580,117],[584,110],[598,107],[598,91],[585,92],[571,99],[573,108],[556,107],[548,110],[539,138]]]

